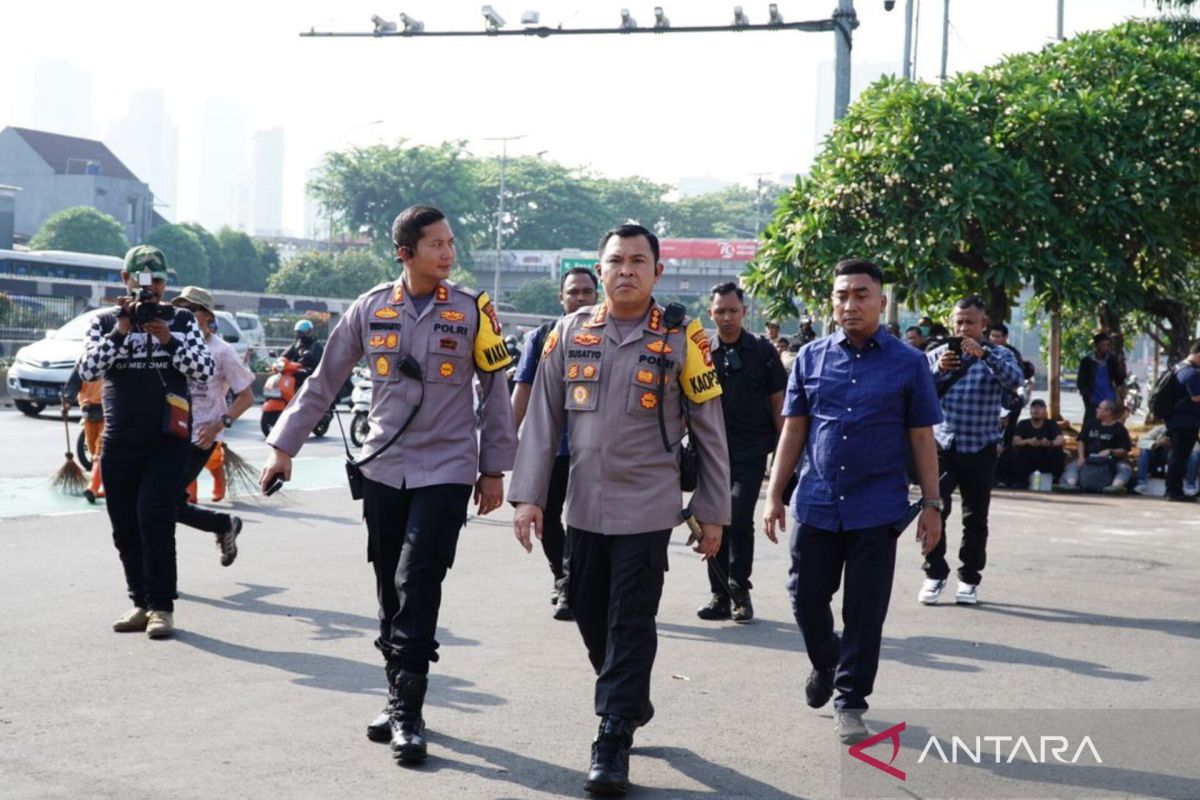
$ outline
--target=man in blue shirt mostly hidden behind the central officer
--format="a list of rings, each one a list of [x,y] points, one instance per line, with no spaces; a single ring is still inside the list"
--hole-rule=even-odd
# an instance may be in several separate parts
[[[563,273],[563,279],[558,284],[558,301],[563,305],[563,312],[574,314],[583,306],[594,306],[596,302],[596,275],[584,266],[575,266]],[[554,327],[554,323],[545,323],[539,326],[526,343],[526,349],[521,354],[521,363],[517,366],[516,389],[512,390],[512,417],[520,429],[524,421],[526,410],[529,408],[529,392],[533,389],[534,375],[538,374],[538,365],[541,362],[541,348],[546,343],[546,335]],[[563,528],[563,504],[566,501],[566,476],[571,469],[571,455],[566,449],[566,431],[563,431],[563,439],[558,444],[558,456],[554,458],[554,468],[550,475],[550,489],[546,495],[546,510],[542,518],[541,552],[550,561],[550,571],[554,575],[554,591],[551,602],[554,603],[554,619],[571,620],[571,606],[566,600],[566,582],[571,549],[566,541],[566,531]]]

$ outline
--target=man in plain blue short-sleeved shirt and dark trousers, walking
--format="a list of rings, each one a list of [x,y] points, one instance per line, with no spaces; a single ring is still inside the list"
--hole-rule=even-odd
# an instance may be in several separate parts
[[[836,690],[835,732],[845,744],[870,735],[863,711],[908,509],[910,452],[922,493],[922,552],[942,535],[932,429],[942,413],[925,356],[880,326],[886,306],[877,265],[838,264],[833,313],[841,330],[804,347],[792,366],[763,518],[767,537],[776,541],[775,531],[786,529],[784,487],[803,453],[788,591],[812,662],[805,699],[817,709]],[[830,601],[844,571],[839,640]]]

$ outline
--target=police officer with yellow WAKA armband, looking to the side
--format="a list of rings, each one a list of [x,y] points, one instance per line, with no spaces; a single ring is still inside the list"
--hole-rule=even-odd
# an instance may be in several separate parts
[[[390,740],[396,759],[413,763],[426,756],[421,709],[430,662],[438,660],[442,581],[473,488],[480,515],[503,501],[516,428],[504,380],[512,359],[496,311],[486,294],[446,281],[455,245],[445,215],[406,209],[392,243],[403,275],[360,296],[338,320],[317,371],[268,438],[262,485],[292,476],[292,457],[366,357],[373,391],[359,461],[371,459],[361,467],[362,510],[379,599],[376,646],[389,685],[388,706],[367,736]],[[478,444],[473,377],[482,389]]]

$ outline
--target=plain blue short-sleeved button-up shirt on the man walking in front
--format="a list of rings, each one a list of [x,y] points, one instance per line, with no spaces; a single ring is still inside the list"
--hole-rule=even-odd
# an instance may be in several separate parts
[[[784,416],[809,417],[792,513],[822,530],[890,525],[908,506],[908,431],[942,421],[925,356],[882,327],[800,349]]]

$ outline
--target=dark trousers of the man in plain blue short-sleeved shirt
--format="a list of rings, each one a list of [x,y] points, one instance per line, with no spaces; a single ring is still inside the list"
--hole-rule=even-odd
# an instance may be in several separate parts
[[[896,534],[890,527],[792,531],[787,590],[792,613],[804,634],[809,661],[834,673],[834,708],[865,709],[880,669],[883,620],[892,597]],[[846,575],[841,599],[841,639],[833,631],[830,602]]]

